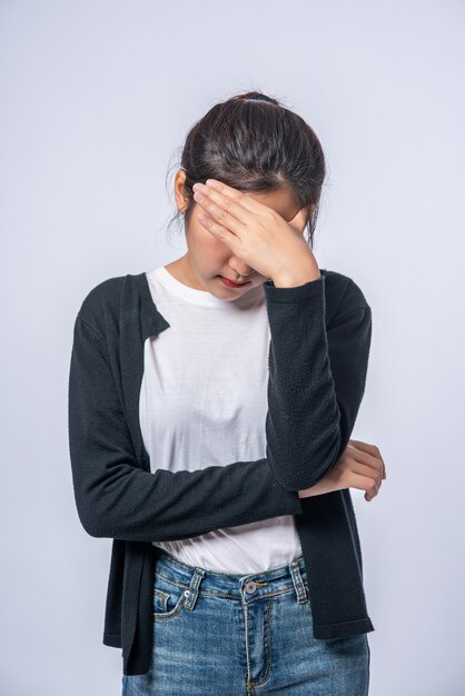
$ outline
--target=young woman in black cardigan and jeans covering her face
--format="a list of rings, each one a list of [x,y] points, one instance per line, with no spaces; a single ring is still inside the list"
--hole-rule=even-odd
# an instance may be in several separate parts
[[[370,500],[386,473],[349,439],[369,305],[311,251],[321,146],[247,92],[194,126],[180,163],[187,252],[100,282],[75,325],[75,497],[113,540],[103,643],[123,696],[364,696],[349,488]]]

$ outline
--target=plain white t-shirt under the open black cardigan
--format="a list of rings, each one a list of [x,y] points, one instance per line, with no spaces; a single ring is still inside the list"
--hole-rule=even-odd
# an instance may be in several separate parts
[[[139,415],[151,470],[266,457],[269,324],[263,286],[227,301],[159,266],[147,272],[170,328],[144,347]],[[257,573],[301,555],[293,515],[154,541],[192,566]]]

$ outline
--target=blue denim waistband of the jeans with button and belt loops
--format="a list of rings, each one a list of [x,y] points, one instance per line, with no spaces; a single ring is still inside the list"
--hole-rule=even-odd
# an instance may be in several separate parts
[[[306,601],[308,598],[307,570],[303,556],[278,568],[259,573],[231,574],[191,566],[160,547],[154,547],[154,551],[155,574],[190,589],[194,596],[199,591],[206,591],[210,595],[248,600],[288,591],[294,586],[297,601]]]

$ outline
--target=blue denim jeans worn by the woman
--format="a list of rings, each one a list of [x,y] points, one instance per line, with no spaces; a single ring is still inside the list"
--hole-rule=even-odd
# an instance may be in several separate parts
[[[315,639],[300,556],[249,575],[156,549],[154,652],[122,696],[366,696],[368,636]]]

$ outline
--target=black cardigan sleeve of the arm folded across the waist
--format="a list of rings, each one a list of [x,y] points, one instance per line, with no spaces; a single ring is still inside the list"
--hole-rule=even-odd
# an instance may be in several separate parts
[[[68,432],[79,519],[95,537],[184,539],[303,511],[266,458],[195,471],[138,466],[106,338],[79,315],[68,389]]]

